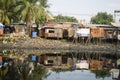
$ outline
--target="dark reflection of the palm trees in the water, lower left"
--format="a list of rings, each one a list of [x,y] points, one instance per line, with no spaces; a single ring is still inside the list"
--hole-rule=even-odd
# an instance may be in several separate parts
[[[36,65],[31,75],[27,63],[0,68],[0,80],[42,80],[47,76],[48,71],[41,65]]]

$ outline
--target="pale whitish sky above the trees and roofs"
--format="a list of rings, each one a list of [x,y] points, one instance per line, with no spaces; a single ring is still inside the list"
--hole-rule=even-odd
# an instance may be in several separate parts
[[[120,10],[120,0],[48,0],[48,4],[53,15],[73,16],[87,22],[98,12],[113,15],[114,10]]]

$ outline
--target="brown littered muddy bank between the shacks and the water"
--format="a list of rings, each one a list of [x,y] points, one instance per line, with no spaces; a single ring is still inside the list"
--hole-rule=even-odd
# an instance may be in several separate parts
[[[92,44],[86,45],[81,43],[68,42],[66,40],[44,39],[44,38],[30,38],[20,37],[15,38],[14,41],[4,42],[0,40],[0,49],[25,49],[25,50],[41,50],[41,51],[69,51],[69,52],[120,52],[120,46],[115,44]]]

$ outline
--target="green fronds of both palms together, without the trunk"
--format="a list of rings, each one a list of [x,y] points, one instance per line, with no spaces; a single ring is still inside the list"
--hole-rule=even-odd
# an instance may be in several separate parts
[[[44,10],[47,7],[47,0],[0,0],[0,22],[10,24],[11,20],[23,20],[28,23],[35,19],[43,24],[47,20],[48,14]]]

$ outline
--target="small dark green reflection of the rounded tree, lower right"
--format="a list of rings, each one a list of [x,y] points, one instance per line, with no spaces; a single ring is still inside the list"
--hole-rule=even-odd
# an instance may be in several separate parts
[[[91,70],[92,73],[95,74],[96,78],[105,78],[105,77],[109,77],[110,73],[109,73],[109,69],[103,69],[103,70]]]

